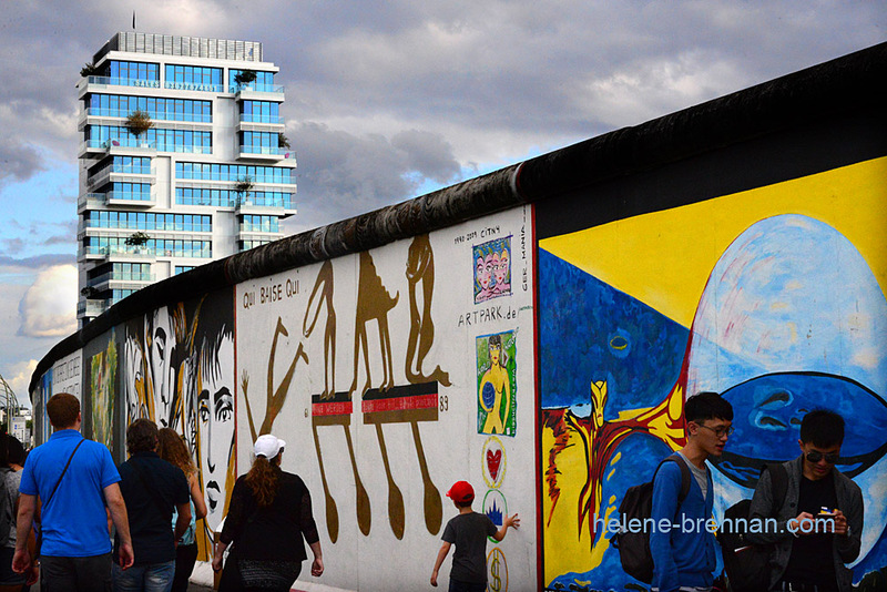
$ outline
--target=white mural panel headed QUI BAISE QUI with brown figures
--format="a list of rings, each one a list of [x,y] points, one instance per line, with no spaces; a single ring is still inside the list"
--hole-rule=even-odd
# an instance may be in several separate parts
[[[486,381],[499,389],[495,431],[500,446],[490,452],[501,459],[492,479],[502,482],[500,439],[517,432],[517,410],[532,412],[532,405],[518,406],[514,400],[518,370],[532,372],[527,349],[526,361],[517,363],[521,348],[516,328],[518,308],[531,303],[531,292],[524,283],[521,298],[476,305],[469,262],[472,238],[480,238],[481,232],[487,242],[513,236],[522,214],[503,214],[489,227],[466,224],[414,236],[236,286],[243,394],[238,425],[249,427],[241,430],[238,441],[245,445],[267,431],[286,440],[294,452],[284,457],[284,468],[300,474],[312,490],[324,543],[374,565],[360,568],[361,586],[380,585],[365,580],[367,574],[389,581],[392,573],[383,575],[385,570],[398,571],[385,561],[391,552],[434,555],[443,521],[453,510],[443,497],[451,482],[471,479],[481,503],[486,490],[476,459],[489,438],[477,427],[485,372]],[[500,252],[502,245],[510,242],[500,242]],[[436,265],[440,257],[465,264],[453,267],[458,275],[441,282],[441,267]],[[530,258],[527,252],[524,268]],[[486,365],[480,374],[475,351],[479,335]],[[503,354],[492,365],[491,336]],[[529,347],[531,329],[526,339]],[[526,436],[534,438],[532,431]],[[517,458],[530,470],[532,455],[527,450]],[[530,516],[531,486],[490,494],[490,512],[496,516],[506,499],[512,503],[516,498],[521,516]],[[532,569],[528,564],[521,573]],[[355,588],[355,573],[341,573],[330,583]],[[408,586],[427,581],[418,574],[408,580]]]

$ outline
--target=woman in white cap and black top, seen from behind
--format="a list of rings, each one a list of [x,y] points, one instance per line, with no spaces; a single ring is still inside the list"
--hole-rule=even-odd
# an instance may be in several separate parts
[[[222,572],[220,592],[288,592],[307,559],[303,537],[314,553],[312,575],[324,573],[312,497],[298,476],[281,470],[284,446],[286,442],[271,433],[259,436],[253,467],[234,484],[213,557],[213,569],[218,571],[225,549],[234,543]]]

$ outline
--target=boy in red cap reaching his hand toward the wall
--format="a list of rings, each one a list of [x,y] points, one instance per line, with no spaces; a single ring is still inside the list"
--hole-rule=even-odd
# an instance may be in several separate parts
[[[435,571],[431,572],[431,585],[437,586],[437,572],[450,547],[456,544],[452,554],[452,569],[450,570],[449,592],[485,592],[487,590],[487,537],[497,541],[506,538],[508,527],[520,527],[518,514],[506,516],[502,528],[496,530],[496,524],[487,514],[481,514],[471,509],[475,501],[475,490],[468,481],[456,481],[447,497],[459,509],[459,516],[450,519],[443,529],[443,544],[437,553]]]

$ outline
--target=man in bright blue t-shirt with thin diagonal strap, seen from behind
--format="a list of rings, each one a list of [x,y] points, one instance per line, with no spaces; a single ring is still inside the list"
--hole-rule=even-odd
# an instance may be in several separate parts
[[[80,435],[77,397],[53,395],[47,415],[55,431],[24,462],[12,569],[24,573],[31,568],[33,558],[26,545],[39,496],[42,589],[111,590],[109,513],[121,540],[121,565],[128,569],[133,562],[120,476],[108,447]]]

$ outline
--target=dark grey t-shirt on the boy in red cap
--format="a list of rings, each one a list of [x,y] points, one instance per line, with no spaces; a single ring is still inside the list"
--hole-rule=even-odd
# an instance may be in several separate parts
[[[497,532],[487,514],[459,514],[447,522],[442,539],[456,545],[450,580],[487,583],[487,537]]]

